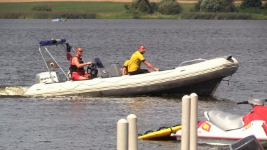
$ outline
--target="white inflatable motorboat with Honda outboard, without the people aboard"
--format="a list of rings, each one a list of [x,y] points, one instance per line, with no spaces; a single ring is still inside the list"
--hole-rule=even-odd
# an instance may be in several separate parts
[[[66,49],[67,45],[69,44],[65,39],[40,42],[41,55],[43,52],[48,52],[52,60],[46,61],[42,55],[48,72],[36,75],[36,84],[27,89],[25,96],[124,96],[193,92],[198,95],[212,95],[223,78],[231,76],[238,70],[238,61],[229,55],[210,60],[186,61],[174,69],[160,72],[122,76],[121,66],[118,63],[112,64],[110,72],[107,72],[100,59],[95,59],[96,68],[91,72],[94,78],[74,81],[66,73],[68,70],[62,70],[47,49],[49,46]],[[59,71],[55,71],[56,68]],[[60,76],[60,70],[64,77]]]

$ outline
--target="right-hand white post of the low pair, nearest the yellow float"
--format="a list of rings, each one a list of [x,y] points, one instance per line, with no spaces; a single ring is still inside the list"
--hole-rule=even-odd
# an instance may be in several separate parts
[[[136,115],[128,115],[129,122],[129,150],[138,150],[138,127]]]

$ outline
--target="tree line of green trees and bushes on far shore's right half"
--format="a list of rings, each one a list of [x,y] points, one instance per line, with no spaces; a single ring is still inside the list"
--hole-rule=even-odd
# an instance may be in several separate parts
[[[258,9],[266,9],[267,3],[262,4],[261,0],[243,0],[240,8],[246,9],[254,7]],[[158,3],[149,0],[133,0],[131,5],[125,4],[127,13],[136,15],[145,13],[153,14],[160,12],[161,14],[172,15],[179,14],[182,10],[181,5],[176,0],[161,0]],[[236,6],[233,0],[199,0],[191,10],[192,12],[235,12]],[[134,17],[133,17],[134,18]]]

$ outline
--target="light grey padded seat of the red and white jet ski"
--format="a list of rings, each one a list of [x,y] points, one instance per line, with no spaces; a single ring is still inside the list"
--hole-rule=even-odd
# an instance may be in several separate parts
[[[220,129],[228,131],[235,130],[244,126],[242,116],[233,115],[229,112],[220,110],[211,110],[207,112],[209,121],[220,127]]]

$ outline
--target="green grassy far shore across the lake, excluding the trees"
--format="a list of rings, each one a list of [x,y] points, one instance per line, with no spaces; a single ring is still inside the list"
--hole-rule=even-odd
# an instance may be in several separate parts
[[[131,19],[135,18],[125,12],[125,4],[120,2],[31,2],[31,3],[0,3],[0,18],[45,18],[55,17],[65,18],[99,18],[99,19]],[[51,7],[51,12],[42,12],[31,10],[33,7],[47,5]],[[244,19],[267,19],[265,13],[253,13],[242,10],[236,14],[199,14],[190,12],[194,3],[180,3],[183,8],[181,14],[162,15],[160,13],[142,14],[137,18],[144,19],[196,19],[199,16],[205,16],[204,19],[238,19],[233,17],[245,16]],[[240,5],[240,4],[236,4]],[[199,16],[198,16],[199,15]],[[213,18],[211,17],[213,16]],[[248,17],[248,16],[251,16]],[[242,19],[242,18],[239,18]]]

